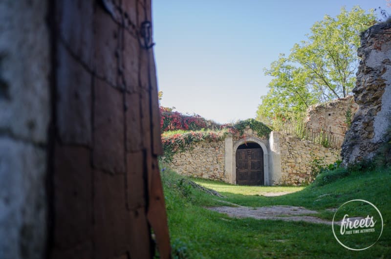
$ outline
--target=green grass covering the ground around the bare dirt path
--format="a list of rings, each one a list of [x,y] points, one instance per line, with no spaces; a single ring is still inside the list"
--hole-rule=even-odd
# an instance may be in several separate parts
[[[226,198],[205,194],[170,170],[162,173],[174,258],[391,258],[391,170],[349,172],[345,178],[308,187],[242,187],[215,181],[195,180]],[[194,179],[193,179],[194,180]],[[297,191],[276,197],[267,192]],[[375,245],[350,251],[333,237],[331,226],[281,220],[235,219],[204,207],[226,206],[224,200],[243,206],[303,206],[332,219],[326,209],[351,199],[365,199],[377,206],[384,230]]]

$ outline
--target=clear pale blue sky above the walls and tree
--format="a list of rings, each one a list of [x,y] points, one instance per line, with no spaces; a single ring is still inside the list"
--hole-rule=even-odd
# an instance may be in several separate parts
[[[270,77],[325,14],[386,0],[153,0],[153,41],[161,105],[219,123],[254,118]]]

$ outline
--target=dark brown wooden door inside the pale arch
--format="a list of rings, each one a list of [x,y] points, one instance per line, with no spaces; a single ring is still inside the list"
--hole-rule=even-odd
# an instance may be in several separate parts
[[[236,183],[264,185],[263,150],[258,143],[246,142],[236,150]]]

